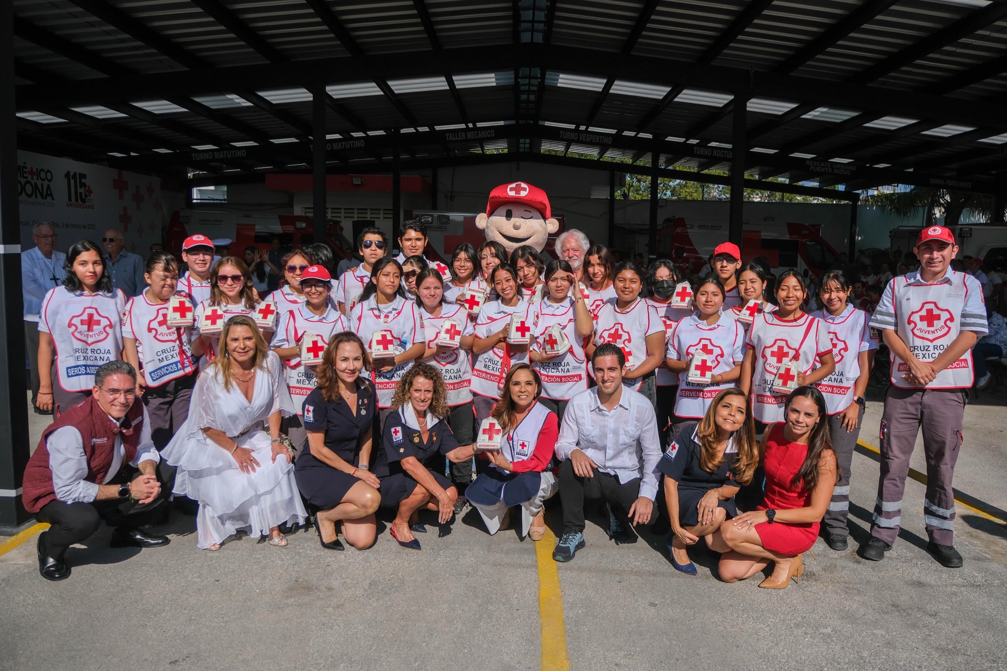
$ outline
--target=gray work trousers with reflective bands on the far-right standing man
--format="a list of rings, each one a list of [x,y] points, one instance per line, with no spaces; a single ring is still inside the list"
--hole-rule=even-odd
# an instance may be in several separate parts
[[[881,418],[881,478],[871,535],[895,542],[902,518],[902,494],[916,434],[923,431],[926,455],[926,535],[939,545],[955,544],[955,492],[952,480],[962,448],[965,389],[901,389],[892,385]]]

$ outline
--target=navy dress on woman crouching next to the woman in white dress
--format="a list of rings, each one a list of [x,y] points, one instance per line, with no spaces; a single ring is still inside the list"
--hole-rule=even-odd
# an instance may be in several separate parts
[[[325,401],[317,389],[304,399],[303,411],[305,430],[324,431],[326,447],[347,463],[355,466],[359,462],[361,438],[374,426],[374,418],[378,412],[374,385],[363,378],[358,379],[356,414],[353,414],[341,396]],[[371,449],[372,461],[376,460],[377,442],[376,436]],[[362,482],[359,478],[315,458],[310,448],[302,450],[297,457],[294,478],[301,495],[321,510],[328,510],[341,503],[349,489]]]

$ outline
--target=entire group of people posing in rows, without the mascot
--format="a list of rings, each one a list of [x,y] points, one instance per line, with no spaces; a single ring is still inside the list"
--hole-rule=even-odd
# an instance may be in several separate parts
[[[393,258],[384,232],[365,229],[363,263],[338,279],[330,256],[294,250],[282,286],[261,296],[242,259],[211,264],[211,242],[193,235],[188,271],[155,252],[129,301],[97,246],[73,245],[38,322],[38,404],[57,413],[24,477],[26,509],[51,525],[41,574],[67,577],[66,548],[102,519],[117,543],[166,544],[141,526],[169,496],[197,502],[196,543],[210,551],[239,533],[282,547],[308,520],[322,547],[342,550],[341,535],[366,549],[380,508],[419,550],[421,511],[443,532],[469,504],[490,534],[514,513],[538,541],[558,493],[557,561],[585,546],[585,501],[600,500],[615,543],[664,524],[678,570],[696,574],[688,553],[704,538],[721,579],[771,565],[760,586],[785,587],[820,526],[847,547],[880,338],[892,386],[863,555],[894,542],[922,422],[928,549],[961,565],[951,475],[986,319],[982,292],[948,268],[947,229],[920,234],[920,270],[889,283],[873,318],[849,303],[842,271],[823,275],[807,313],[800,273],[773,277],[731,243],[691,285],[669,260],[616,265],[577,231],[548,263],[487,242],[444,264],[423,256],[427,243],[408,222]]]

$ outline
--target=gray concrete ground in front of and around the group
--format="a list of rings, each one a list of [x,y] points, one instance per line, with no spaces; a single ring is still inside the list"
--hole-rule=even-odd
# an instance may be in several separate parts
[[[1005,404],[999,392],[969,405],[956,474],[960,491],[1001,510]],[[880,415],[869,403],[863,440],[877,444]],[[925,471],[918,452],[913,465]],[[876,484],[876,461],[858,452],[857,542]],[[719,582],[703,550],[699,575],[685,576],[664,538],[616,547],[600,518],[589,522],[587,547],[558,566],[571,668],[1007,668],[1007,528],[959,507],[965,567],[946,569],[922,549],[922,500],[910,481],[884,561],[820,540],[802,583],[781,591],[758,589],[757,577]],[[181,515],[163,531],[171,545],[141,552],[109,548],[102,529],[71,549],[74,575],[58,583],[38,576],[33,542],[0,557],[0,669],[540,668],[533,543],[489,537],[474,512],[449,536],[420,536],[421,552],[399,548],[384,525],[376,547],[342,553],[313,533],[285,549],[245,538],[203,552]]]

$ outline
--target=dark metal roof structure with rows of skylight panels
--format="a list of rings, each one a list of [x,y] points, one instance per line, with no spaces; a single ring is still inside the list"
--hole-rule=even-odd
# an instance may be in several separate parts
[[[695,171],[743,145],[754,180],[992,193],[1007,168],[1007,2],[13,5],[19,146],[133,169],[310,169],[319,115],[330,171],[655,156],[717,181]]]

